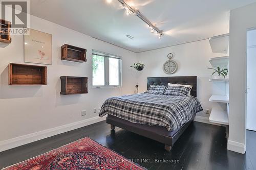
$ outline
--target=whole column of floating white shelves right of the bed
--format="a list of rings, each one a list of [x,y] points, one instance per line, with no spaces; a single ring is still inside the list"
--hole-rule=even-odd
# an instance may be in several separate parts
[[[209,38],[209,43],[211,45],[212,52],[214,53],[227,53],[229,48],[229,34],[224,34],[220,36],[215,36]],[[212,67],[217,68],[220,67],[228,68],[229,69],[229,56],[223,56],[223,57],[214,57],[210,58],[209,62]],[[221,124],[228,126],[228,115],[229,115],[229,79],[209,79],[209,82],[212,83],[225,83],[224,84],[218,84],[218,87],[225,87],[226,94],[224,95],[218,95],[218,94],[212,94],[209,98],[209,102],[218,102],[218,103],[225,103],[227,106],[227,110],[212,108],[211,113],[209,116],[209,122]],[[221,92],[223,93],[223,92]]]

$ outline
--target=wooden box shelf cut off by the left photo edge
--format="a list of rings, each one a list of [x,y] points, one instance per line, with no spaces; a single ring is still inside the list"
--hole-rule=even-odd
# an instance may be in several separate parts
[[[11,22],[0,19],[0,47],[6,47],[11,43],[10,29]]]

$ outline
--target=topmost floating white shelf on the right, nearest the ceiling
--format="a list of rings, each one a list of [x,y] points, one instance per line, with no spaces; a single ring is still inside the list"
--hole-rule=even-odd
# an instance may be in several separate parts
[[[213,53],[227,53],[229,46],[229,34],[223,34],[209,38]]]

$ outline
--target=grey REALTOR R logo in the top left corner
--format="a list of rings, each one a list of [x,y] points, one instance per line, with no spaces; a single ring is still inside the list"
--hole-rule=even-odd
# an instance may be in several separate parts
[[[0,18],[11,22],[11,34],[24,35],[29,28],[29,0],[0,0]]]

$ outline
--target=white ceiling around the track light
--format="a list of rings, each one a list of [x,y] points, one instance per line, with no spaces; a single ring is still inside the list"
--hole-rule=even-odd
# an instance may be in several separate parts
[[[30,13],[133,52],[153,50],[228,33],[229,10],[256,0],[130,0],[164,36],[158,39],[118,0],[33,0]],[[134,39],[129,39],[131,35]]]

